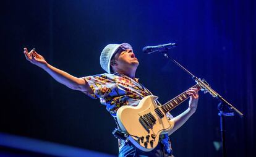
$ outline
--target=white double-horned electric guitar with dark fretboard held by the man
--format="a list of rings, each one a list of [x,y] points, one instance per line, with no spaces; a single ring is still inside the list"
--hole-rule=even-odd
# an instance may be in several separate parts
[[[201,89],[198,84],[192,88]],[[189,95],[184,91],[162,106],[155,103],[157,98],[148,95],[138,106],[122,106],[117,110],[120,129],[126,132],[130,142],[142,151],[153,150],[158,145],[159,136],[173,129],[174,123],[168,120],[166,113],[187,100]]]

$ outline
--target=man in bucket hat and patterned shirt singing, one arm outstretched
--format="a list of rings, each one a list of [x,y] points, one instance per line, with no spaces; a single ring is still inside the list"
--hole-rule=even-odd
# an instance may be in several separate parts
[[[59,83],[73,90],[82,91],[91,98],[100,98],[101,104],[106,105],[106,109],[114,118],[121,106],[137,106],[142,98],[151,95],[151,92],[135,78],[139,61],[133,53],[132,46],[127,43],[109,44],[103,49],[100,64],[107,73],[82,78],[51,66],[43,56],[36,53],[35,49],[28,53],[27,48],[24,48],[24,54],[28,61],[46,70]],[[197,89],[190,88],[187,94],[190,96],[189,108],[176,117],[167,115],[169,121],[174,124],[173,129],[168,134],[160,136],[160,142],[154,150],[144,152],[132,145],[129,140],[119,140],[119,156],[173,156],[168,135],[179,129],[197,109]]]

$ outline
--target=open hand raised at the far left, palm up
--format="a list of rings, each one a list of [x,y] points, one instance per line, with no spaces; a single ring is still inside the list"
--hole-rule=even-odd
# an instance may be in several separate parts
[[[28,53],[28,49],[24,48],[23,53],[25,54],[26,59],[30,61],[32,64],[35,64],[36,66],[43,68],[43,66],[47,64],[45,58],[40,54],[36,53],[35,49],[32,49],[30,53]]]

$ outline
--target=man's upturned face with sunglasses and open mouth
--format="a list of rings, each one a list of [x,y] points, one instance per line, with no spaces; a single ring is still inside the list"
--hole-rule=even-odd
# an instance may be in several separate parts
[[[122,67],[132,66],[137,67],[139,66],[139,61],[135,57],[134,52],[132,49],[120,47],[117,49],[117,53],[113,57],[114,61],[116,62],[116,66],[123,69]]]

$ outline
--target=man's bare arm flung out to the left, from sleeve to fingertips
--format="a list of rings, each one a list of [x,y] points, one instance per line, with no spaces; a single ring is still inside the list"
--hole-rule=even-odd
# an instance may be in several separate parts
[[[56,67],[51,66],[48,62],[45,61],[45,58],[40,54],[36,53],[35,49],[32,49],[30,53],[28,53],[27,48],[24,48],[25,57],[32,64],[35,64],[41,69],[44,69],[48,72],[51,77],[53,77],[59,83],[66,85],[72,90],[86,91],[88,93],[92,93],[91,88],[88,83],[83,78],[74,77],[63,70],[57,69]]]

